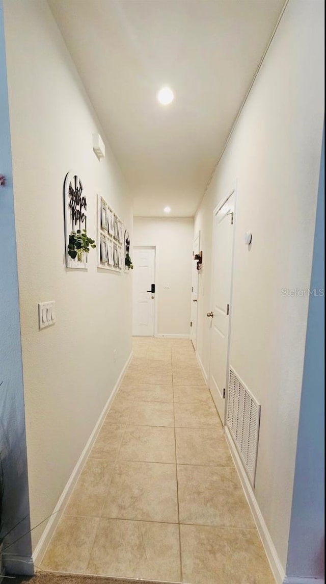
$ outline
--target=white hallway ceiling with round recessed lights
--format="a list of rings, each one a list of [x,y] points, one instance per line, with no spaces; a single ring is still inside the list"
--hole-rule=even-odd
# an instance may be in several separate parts
[[[194,215],[284,0],[48,1],[135,215]]]

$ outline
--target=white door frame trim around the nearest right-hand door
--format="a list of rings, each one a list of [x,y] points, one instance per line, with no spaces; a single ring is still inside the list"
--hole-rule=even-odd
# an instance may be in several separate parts
[[[228,398],[228,390],[229,390],[229,369],[230,369],[230,346],[231,346],[231,324],[232,324],[232,294],[233,294],[233,273],[234,273],[234,242],[236,238],[236,208],[237,208],[237,187],[238,187],[238,180],[236,179],[233,183],[233,186],[229,189],[229,193],[223,197],[223,199],[216,205],[213,209],[213,220],[212,220],[212,264],[211,264],[211,297],[210,297],[210,304],[212,304],[212,297],[213,297],[213,265],[214,265],[214,255],[213,255],[213,247],[215,242],[215,230],[214,230],[214,218],[215,215],[218,214],[220,209],[222,209],[223,205],[227,203],[227,201],[232,197],[234,194],[234,215],[233,215],[233,241],[232,241],[232,260],[231,260],[231,284],[230,284],[230,312],[229,312],[229,335],[227,339],[227,356],[226,356],[226,379],[225,379],[225,409],[224,409],[224,419],[222,420],[223,426],[225,426],[226,420],[226,411],[227,411],[227,398]],[[207,385],[209,387],[209,381],[211,379],[211,349],[212,349],[212,325],[211,325],[211,333],[209,335],[209,361],[208,361],[208,380]]]

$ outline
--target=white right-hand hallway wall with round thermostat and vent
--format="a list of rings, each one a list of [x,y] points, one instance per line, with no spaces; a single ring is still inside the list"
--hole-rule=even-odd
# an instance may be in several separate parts
[[[237,179],[230,364],[261,404],[255,497],[285,571],[324,115],[324,3],[290,0],[195,217],[208,373],[213,208]],[[244,232],[253,233],[250,251]]]

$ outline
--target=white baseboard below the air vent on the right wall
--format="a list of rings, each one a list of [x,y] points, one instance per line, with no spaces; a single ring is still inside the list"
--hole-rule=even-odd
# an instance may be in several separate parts
[[[232,436],[229,432],[229,429],[225,426],[224,430],[225,430],[226,442],[229,445],[229,449],[230,449],[234,464],[236,465],[236,469],[237,469],[237,472],[239,474],[241,484],[243,486],[244,494],[246,495],[248,505],[250,506],[250,509],[251,509],[251,513],[253,513],[254,522],[257,526],[258,533],[260,534],[262,545],[264,545],[267,559],[269,561],[269,565],[271,566],[272,572],[274,574],[274,578],[275,578],[277,584],[285,584],[286,581],[285,581],[284,568],[283,568],[281,561],[278,557],[278,554],[275,550],[275,546],[274,546],[272,538],[269,534],[269,531],[267,529],[267,525],[265,523],[264,517],[262,516],[261,510],[258,507],[257,500],[255,498],[253,489],[251,488],[250,482],[248,481],[246,472],[244,471],[243,464],[241,463],[239,454],[237,453],[236,446],[234,445],[234,442],[233,442]],[[290,582],[289,582],[289,584],[290,584]],[[296,584],[296,583],[293,580],[293,582],[291,582],[291,584]],[[302,584],[304,584],[304,582],[302,582]],[[312,584],[312,582],[310,582],[309,584]]]

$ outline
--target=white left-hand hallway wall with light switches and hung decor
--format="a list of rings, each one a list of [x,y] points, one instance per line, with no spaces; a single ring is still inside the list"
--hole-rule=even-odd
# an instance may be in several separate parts
[[[5,1],[4,9],[33,527],[54,509],[131,352],[129,274],[97,270],[95,250],[86,273],[65,269],[66,172],[83,180],[90,236],[97,191],[129,232],[132,208],[47,2]],[[39,332],[37,303],[46,300],[55,300],[57,323]],[[33,531],[33,547],[45,525]]]

